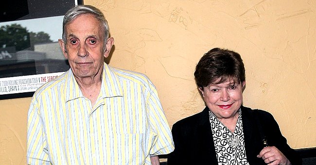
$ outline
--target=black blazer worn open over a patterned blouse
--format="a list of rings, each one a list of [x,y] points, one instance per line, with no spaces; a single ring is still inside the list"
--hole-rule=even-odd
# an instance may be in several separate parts
[[[301,159],[290,148],[273,116],[262,110],[241,107],[246,157],[249,165],[266,165],[257,158],[263,149],[262,136],[269,146],[278,148],[292,165],[301,165]],[[168,155],[168,165],[218,165],[209,108],[176,122],[172,127],[175,150]]]

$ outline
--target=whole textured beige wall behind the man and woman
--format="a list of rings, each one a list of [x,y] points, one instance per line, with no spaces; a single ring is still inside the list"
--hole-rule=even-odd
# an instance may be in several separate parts
[[[272,113],[291,147],[316,147],[315,0],[84,2],[109,22],[115,39],[109,64],[154,82],[170,126],[204,108],[193,79],[199,58],[228,48],[246,66],[244,105]],[[25,164],[29,103],[0,100],[0,164]]]

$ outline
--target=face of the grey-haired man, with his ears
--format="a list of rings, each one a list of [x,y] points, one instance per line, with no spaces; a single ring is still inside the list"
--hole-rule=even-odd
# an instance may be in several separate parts
[[[99,20],[89,14],[77,16],[66,26],[67,42],[59,40],[59,44],[75,77],[94,77],[102,72],[104,58],[113,45],[113,38],[109,38],[103,51],[102,31]]]

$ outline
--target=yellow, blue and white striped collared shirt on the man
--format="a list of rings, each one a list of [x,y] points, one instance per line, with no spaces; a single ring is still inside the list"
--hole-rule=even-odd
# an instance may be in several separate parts
[[[174,150],[152,82],[106,64],[94,105],[70,69],[36,90],[27,127],[31,165],[150,165]]]

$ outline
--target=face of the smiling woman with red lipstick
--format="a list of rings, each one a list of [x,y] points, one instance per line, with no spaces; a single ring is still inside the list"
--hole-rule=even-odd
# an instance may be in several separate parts
[[[236,116],[243,102],[243,87],[246,82],[222,82],[199,88],[206,105],[218,119]]]

